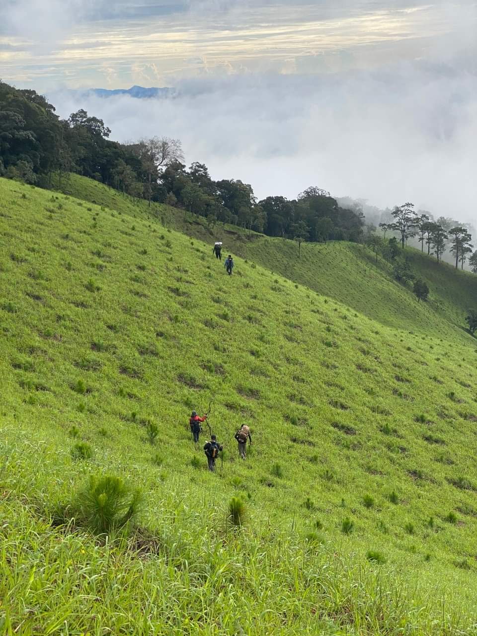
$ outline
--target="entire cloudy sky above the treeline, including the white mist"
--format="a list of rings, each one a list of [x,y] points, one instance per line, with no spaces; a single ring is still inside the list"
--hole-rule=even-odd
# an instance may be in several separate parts
[[[181,139],[261,198],[312,184],[476,221],[477,0],[1,0],[0,78]],[[87,88],[172,86],[169,100]],[[72,92],[74,91],[74,92]]]

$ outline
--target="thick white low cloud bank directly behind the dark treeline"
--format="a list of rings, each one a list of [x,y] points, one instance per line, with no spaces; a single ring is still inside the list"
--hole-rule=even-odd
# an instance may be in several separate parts
[[[168,135],[212,177],[259,198],[315,184],[335,196],[475,221],[477,76],[444,64],[380,72],[201,78],[174,99],[50,93],[57,112],[102,119],[111,139]]]

